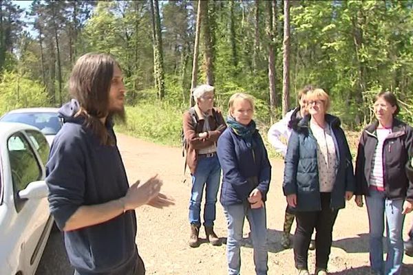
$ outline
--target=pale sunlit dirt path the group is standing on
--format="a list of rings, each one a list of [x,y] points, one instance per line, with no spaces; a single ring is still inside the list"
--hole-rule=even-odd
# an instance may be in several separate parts
[[[213,247],[202,243],[200,248],[189,248],[188,201],[189,176],[182,183],[183,158],[180,148],[159,146],[134,137],[118,135],[118,145],[123,156],[130,182],[147,179],[158,173],[164,181],[163,191],[176,199],[176,206],[165,210],[142,207],[138,213],[137,243],[147,266],[148,274],[226,274],[225,245]],[[282,250],[280,232],[286,206],[282,195],[283,162],[272,159],[273,181],[268,192],[268,274],[295,274],[293,250]],[[410,226],[412,215],[407,217],[405,228]],[[215,229],[226,236],[226,221],[222,206],[217,204]],[[405,230],[406,232],[407,230]],[[248,223],[244,227],[242,248],[242,274],[255,274],[253,250],[248,239]],[[354,203],[339,212],[329,270],[332,274],[368,274],[368,217],[366,208]],[[204,232],[200,236],[204,239]],[[310,253],[310,271],[314,270],[314,252]],[[404,274],[413,274],[413,258],[405,256]]]

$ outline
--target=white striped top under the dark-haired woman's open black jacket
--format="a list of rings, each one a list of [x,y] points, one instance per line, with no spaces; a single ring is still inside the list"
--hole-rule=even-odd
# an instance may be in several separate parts
[[[392,133],[392,129],[377,128],[377,146],[372,158],[372,171],[370,173],[370,186],[375,186],[379,189],[384,189],[383,181],[383,144],[388,135]]]

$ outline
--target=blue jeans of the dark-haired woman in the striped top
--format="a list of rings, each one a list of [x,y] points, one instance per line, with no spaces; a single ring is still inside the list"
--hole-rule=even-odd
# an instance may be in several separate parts
[[[386,199],[383,191],[370,189],[366,197],[370,228],[370,265],[385,275],[401,274],[403,261],[403,199]],[[384,223],[384,216],[386,223]],[[388,254],[383,262],[383,232],[387,234]],[[384,266],[383,266],[384,265]]]

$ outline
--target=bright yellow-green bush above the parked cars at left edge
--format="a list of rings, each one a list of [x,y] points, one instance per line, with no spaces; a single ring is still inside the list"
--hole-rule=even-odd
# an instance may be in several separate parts
[[[17,108],[48,106],[45,87],[14,72],[3,72],[0,80],[0,115]]]

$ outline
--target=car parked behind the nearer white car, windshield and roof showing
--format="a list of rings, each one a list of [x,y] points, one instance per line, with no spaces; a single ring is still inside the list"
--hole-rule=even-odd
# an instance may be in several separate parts
[[[63,125],[58,111],[58,108],[46,107],[16,109],[3,115],[0,122],[19,122],[35,126],[52,146],[54,137]]]

